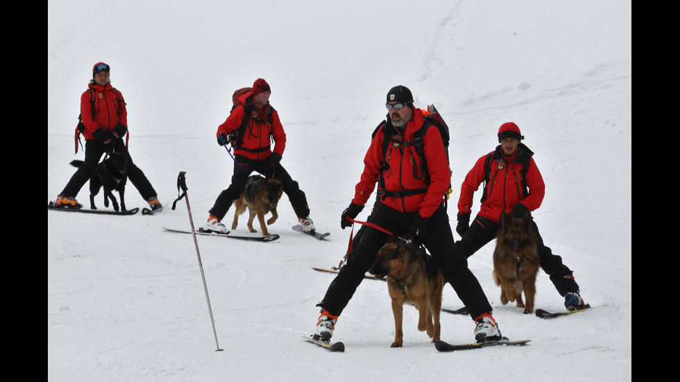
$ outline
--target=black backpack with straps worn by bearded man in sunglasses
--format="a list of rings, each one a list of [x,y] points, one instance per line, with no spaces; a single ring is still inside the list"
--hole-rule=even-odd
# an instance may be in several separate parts
[[[425,133],[427,133],[427,129],[429,129],[431,126],[435,126],[437,129],[439,129],[439,134],[441,135],[441,140],[444,144],[444,152],[446,153],[446,162],[447,164],[450,165],[449,162],[449,151],[448,151],[448,146],[449,146],[449,141],[450,141],[450,134],[449,134],[449,127],[446,124],[446,122],[441,118],[441,114],[436,110],[434,105],[429,105],[427,106],[427,110],[423,113],[423,126],[419,128],[415,133],[414,133],[414,140],[413,142],[405,142],[401,140],[400,135],[398,134],[397,129],[387,120],[382,121],[379,125],[377,125],[377,128],[373,130],[373,134],[371,135],[371,139],[375,138],[375,134],[377,134],[378,130],[380,130],[381,127],[384,126],[383,128],[383,141],[382,141],[382,155],[385,157],[387,155],[387,150],[389,148],[389,145],[393,142],[398,142],[399,144],[402,144],[404,146],[414,146],[416,148],[416,153],[420,157],[420,163],[421,166],[420,168],[416,168],[416,165],[414,164],[414,177],[416,180],[421,180],[423,177],[430,177],[430,174],[427,172],[427,163],[425,162],[425,150],[423,148],[423,137],[425,137]],[[418,193],[427,193],[427,188],[423,189],[415,189],[415,190],[405,190],[405,191],[386,191],[384,187],[384,179],[382,177],[382,173],[388,168],[388,165],[385,162],[383,162],[383,168],[381,171],[380,175],[380,180],[378,180],[378,197],[384,200],[384,198],[391,196],[393,198],[403,198],[405,196],[411,196],[411,195],[417,195]],[[429,182],[429,180],[428,180]],[[452,193],[453,190],[451,189],[451,184],[449,184],[449,189],[445,193],[444,197],[446,199],[445,205],[448,207],[448,199],[450,193]]]

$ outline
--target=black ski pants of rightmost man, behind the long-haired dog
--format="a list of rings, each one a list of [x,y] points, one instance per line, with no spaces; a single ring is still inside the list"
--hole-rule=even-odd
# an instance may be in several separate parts
[[[483,216],[477,215],[461,240],[456,242],[456,248],[465,257],[470,257],[479,248],[492,241],[496,237],[499,228],[500,223],[494,223]],[[543,244],[543,238],[538,233],[538,226],[533,219],[532,229],[534,229],[534,234],[536,234],[538,256],[541,257],[541,268],[550,276],[550,281],[552,281],[557,292],[562,296],[568,292],[579,292],[579,284],[576,283],[572,271],[562,263],[561,257],[552,253],[552,250]]]

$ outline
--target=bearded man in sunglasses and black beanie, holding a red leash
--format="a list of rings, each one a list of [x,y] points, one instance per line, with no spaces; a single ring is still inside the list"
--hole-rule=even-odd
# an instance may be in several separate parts
[[[414,146],[414,134],[423,128],[423,111],[414,107],[413,95],[404,86],[387,94],[388,118],[375,134],[364,157],[364,172],[355,197],[343,211],[341,227],[349,227],[371,198],[381,179],[382,198],[375,203],[371,223],[389,232],[405,235],[430,251],[444,278],[450,282],[475,320],[475,340],[502,338],[491,316],[491,305],[479,281],[468,269],[467,258],[455,250],[448,215],[443,207],[451,172],[439,129],[428,125],[423,134],[424,161]],[[391,137],[384,153],[384,137]],[[425,167],[429,176],[423,176]],[[348,304],[375,255],[389,237],[379,229],[366,227],[361,243],[347,255],[347,263],[328,287],[316,324],[314,338],[330,342],[338,316]]]

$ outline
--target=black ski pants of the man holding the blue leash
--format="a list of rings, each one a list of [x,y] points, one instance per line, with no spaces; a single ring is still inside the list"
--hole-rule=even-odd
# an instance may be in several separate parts
[[[248,159],[242,155],[236,155],[236,160],[234,162],[234,175],[231,177],[231,184],[228,189],[223,190],[215,204],[210,209],[210,214],[216,216],[219,220],[222,220],[224,216],[229,211],[229,208],[234,203],[234,200],[241,198],[241,193],[246,189],[246,182],[248,182],[248,176],[253,171],[258,173],[264,172],[264,167],[266,166],[267,159],[260,161],[255,161],[253,159]],[[309,216],[309,207],[307,206],[307,196],[300,190],[298,182],[291,178],[291,175],[281,166],[278,165],[274,171],[274,177],[278,177],[281,180],[281,185],[283,186],[283,192],[286,193],[288,199],[293,206],[293,210],[298,218],[306,218]]]

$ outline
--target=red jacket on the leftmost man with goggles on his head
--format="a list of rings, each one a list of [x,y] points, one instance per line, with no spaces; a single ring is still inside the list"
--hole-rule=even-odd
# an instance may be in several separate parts
[[[92,133],[99,128],[110,132],[118,123],[128,126],[128,110],[125,107],[123,94],[118,89],[106,85],[90,84],[90,89],[80,96],[80,119],[83,120],[85,139],[94,139]],[[94,119],[90,92],[94,92]]]

